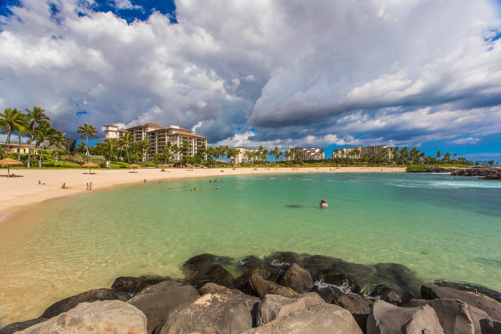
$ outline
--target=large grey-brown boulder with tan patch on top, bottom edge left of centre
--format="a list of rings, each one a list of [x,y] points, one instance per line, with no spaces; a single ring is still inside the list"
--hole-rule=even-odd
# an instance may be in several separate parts
[[[238,334],[252,328],[260,301],[243,293],[189,297],[165,314],[154,334]]]

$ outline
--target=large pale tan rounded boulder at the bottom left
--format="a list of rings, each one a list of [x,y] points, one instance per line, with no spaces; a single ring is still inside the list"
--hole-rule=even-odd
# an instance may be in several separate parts
[[[121,300],[83,302],[47,321],[28,327],[22,334],[147,334],[146,316]]]

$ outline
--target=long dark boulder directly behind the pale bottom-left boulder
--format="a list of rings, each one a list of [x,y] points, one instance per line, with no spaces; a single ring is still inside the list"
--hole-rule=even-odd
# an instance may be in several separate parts
[[[93,302],[103,300],[119,299],[116,293],[111,289],[94,289],[85,291],[74,296],[56,301],[51,306],[47,307],[40,318],[52,318],[60,313],[69,311],[81,302]]]

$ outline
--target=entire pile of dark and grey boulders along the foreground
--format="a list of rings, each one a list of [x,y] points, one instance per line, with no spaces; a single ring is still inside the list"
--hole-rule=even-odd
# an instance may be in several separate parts
[[[501,333],[499,292],[423,284],[397,263],[293,252],[264,259],[200,254],[180,270],[185,279],[118,277],[112,289],[62,299],[0,334]],[[473,287],[485,294],[464,291]]]

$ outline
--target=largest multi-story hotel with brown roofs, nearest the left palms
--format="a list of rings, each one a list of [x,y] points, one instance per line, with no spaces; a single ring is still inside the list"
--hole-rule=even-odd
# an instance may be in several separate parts
[[[151,161],[151,157],[159,153],[167,141],[170,141],[172,145],[177,144],[177,146],[181,146],[185,141],[189,142],[190,150],[182,154],[182,158],[185,158],[186,156],[195,156],[202,144],[207,146],[207,140],[209,139],[176,125],[163,127],[153,123],[142,124],[128,129],[118,129],[116,125],[105,125],[104,133],[106,139],[122,138],[125,134],[130,134],[133,142],[147,139],[150,143],[151,153],[142,158],[146,159],[146,161]],[[179,160],[180,156],[181,154],[177,152],[174,159]],[[205,159],[205,153],[203,153],[203,157]]]

